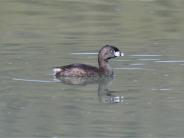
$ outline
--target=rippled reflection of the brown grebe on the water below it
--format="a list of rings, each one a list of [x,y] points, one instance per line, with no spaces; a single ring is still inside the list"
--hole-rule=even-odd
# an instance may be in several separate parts
[[[123,96],[115,95],[115,91],[110,91],[114,77],[56,77],[63,84],[86,86],[89,84],[98,85],[98,97],[102,103],[122,103]]]

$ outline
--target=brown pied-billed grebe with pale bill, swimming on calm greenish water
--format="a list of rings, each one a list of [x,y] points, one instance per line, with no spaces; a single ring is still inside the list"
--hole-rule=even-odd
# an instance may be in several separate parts
[[[70,64],[53,69],[56,77],[92,77],[92,76],[111,76],[113,70],[108,60],[123,56],[118,48],[112,45],[103,46],[98,53],[99,68],[86,64]]]

